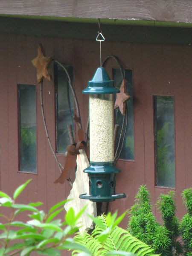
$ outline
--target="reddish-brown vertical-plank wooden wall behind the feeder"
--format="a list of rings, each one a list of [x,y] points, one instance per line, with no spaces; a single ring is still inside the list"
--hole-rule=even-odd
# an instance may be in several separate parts
[[[60,175],[49,148],[41,117],[40,86],[36,71],[30,62],[37,55],[41,43],[47,56],[74,67],[74,84],[78,96],[81,119],[86,127],[88,96],[81,91],[99,67],[99,43],[81,39],[60,39],[23,35],[0,35],[0,189],[12,195],[14,189],[29,178],[32,182],[20,203],[43,201],[47,210],[67,198],[71,186],[54,184]],[[134,143],[135,160],[119,160],[122,170],[117,175],[116,192],[125,192],[127,198],[109,205],[110,211],[119,213],[134,203],[140,185],[146,184],[154,204],[160,193],[169,191],[154,186],[154,131],[153,95],[175,97],[175,162],[177,215],[183,216],[184,207],[180,193],[191,186],[192,166],[192,47],[189,45],[135,44],[105,41],[102,56],[116,55],[124,67],[133,70],[134,84]],[[111,74],[116,63],[106,66]],[[118,67],[116,67],[118,68]],[[18,172],[17,84],[37,84],[37,152],[38,174]],[[55,146],[54,83],[44,82],[44,108],[49,135]],[[64,155],[58,155],[62,164]],[[74,174],[71,174],[73,179]],[[155,210],[157,213],[157,211]],[[127,219],[122,221],[126,227]]]

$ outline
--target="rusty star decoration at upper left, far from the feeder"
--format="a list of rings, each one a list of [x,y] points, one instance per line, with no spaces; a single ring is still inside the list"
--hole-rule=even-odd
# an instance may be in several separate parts
[[[52,80],[52,76],[49,70],[52,58],[46,57],[44,49],[41,44],[38,44],[38,56],[32,60],[32,64],[37,69],[38,83],[41,83],[43,78],[47,78],[49,81]]]

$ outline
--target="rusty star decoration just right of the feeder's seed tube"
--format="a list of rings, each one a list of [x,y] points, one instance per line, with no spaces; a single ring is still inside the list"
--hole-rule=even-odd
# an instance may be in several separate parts
[[[122,115],[125,116],[125,106],[126,102],[131,98],[126,89],[126,79],[123,79],[121,87],[119,88],[120,93],[116,93],[116,101],[114,108],[118,108],[121,111]]]

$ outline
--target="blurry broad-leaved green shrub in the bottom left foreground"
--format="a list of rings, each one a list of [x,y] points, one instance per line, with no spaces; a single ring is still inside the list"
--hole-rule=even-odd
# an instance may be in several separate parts
[[[80,244],[72,239],[72,236],[79,230],[80,217],[85,207],[77,214],[73,208],[70,208],[63,222],[57,217],[64,210],[64,204],[67,200],[55,204],[47,214],[38,209],[42,205],[41,202],[17,203],[17,197],[29,182],[30,180],[19,186],[12,198],[0,191],[0,216],[2,220],[2,223],[0,223],[0,256],[29,256],[32,252],[47,256],[60,256],[63,250],[78,250],[78,253],[76,253],[78,256],[93,256],[94,254],[87,249],[86,244]],[[3,211],[3,208],[6,210]],[[6,214],[3,215],[3,212],[6,212]],[[18,221],[21,212],[28,214],[28,221]],[[116,218],[116,215],[108,214],[108,228],[98,236],[98,243],[96,241],[94,243],[90,242],[92,246],[97,247],[98,244],[102,244],[103,247],[111,230],[119,224],[125,214],[126,212],[119,218]],[[93,219],[97,224],[104,227],[100,219]],[[106,255],[133,256],[133,253],[106,250]]]

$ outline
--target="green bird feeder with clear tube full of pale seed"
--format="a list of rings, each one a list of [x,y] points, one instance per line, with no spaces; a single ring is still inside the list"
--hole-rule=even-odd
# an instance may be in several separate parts
[[[99,67],[83,93],[89,97],[90,166],[84,170],[89,176],[89,194],[79,197],[93,202],[114,201],[126,195],[116,194],[114,166],[114,107],[113,95],[119,93],[104,67]]]

